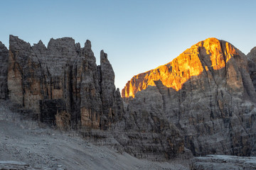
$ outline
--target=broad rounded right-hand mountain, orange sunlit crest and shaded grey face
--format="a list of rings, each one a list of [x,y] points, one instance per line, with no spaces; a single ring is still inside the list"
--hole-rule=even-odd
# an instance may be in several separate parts
[[[194,155],[255,155],[255,89],[247,57],[215,38],[198,42],[172,62],[138,74],[122,90],[128,108],[152,105],[152,90],[161,102],[151,114],[163,115],[184,137]],[[144,90],[146,89],[146,90]],[[162,108],[162,112],[156,110]]]

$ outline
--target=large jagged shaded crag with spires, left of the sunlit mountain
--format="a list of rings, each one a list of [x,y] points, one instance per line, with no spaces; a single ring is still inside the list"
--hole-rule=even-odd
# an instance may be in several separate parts
[[[43,123],[107,130],[122,116],[112,66],[102,51],[97,67],[89,40],[82,48],[72,38],[31,47],[10,35],[9,51],[9,97]]]

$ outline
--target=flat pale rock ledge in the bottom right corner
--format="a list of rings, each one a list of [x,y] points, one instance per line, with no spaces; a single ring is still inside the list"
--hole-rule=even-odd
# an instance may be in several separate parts
[[[196,157],[191,162],[191,170],[256,169],[256,157],[235,157],[230,155],[207,155]]]

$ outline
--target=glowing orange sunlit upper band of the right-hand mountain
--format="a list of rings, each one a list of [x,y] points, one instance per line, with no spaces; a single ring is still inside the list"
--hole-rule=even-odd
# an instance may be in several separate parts
[[[208,71],[225,67],[233,55],[238,55],[233,45],[216,38],[208,38],[185,50],[173,61],[132,77],[122,89],[122,97],[134,98],[137,91],[142,91],[147,86],[156,86],[154,81],[158,80],[164,86],[178,91],[188,79],[201,74],[203,69]],[[203,62],[211,63],[210,68]]]

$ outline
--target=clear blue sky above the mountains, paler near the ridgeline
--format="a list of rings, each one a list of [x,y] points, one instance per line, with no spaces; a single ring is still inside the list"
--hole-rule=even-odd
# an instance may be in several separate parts
[[[171,62],[191,45],[215,37],[247,54],[256,46],[256,1],[26,1],[1,3],[0,41],[9,35],[33,43],[72,37],[91,40],[112,63],[122,89],[135,74]]]

